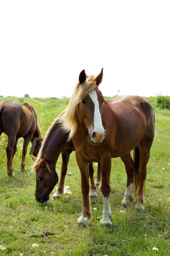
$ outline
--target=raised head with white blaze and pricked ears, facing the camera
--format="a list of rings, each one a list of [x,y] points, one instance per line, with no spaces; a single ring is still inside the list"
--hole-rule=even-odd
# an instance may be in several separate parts
[[[94,84],[94,90],[88,92],[87,95],[78,104],[77,119],[88,129],[91,143],[101,143],[106,135],[102,126],[102,105],[105,98],[99,90],[99,84],[102,82],[103,69],[96,77],[87,77],[85,70],[79,74],[79,87],[89,87]],[[85,89],[84,89],[85,91]]]

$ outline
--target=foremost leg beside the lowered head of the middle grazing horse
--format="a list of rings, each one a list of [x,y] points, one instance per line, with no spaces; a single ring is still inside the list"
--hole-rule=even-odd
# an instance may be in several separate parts
[[[65,175],[67,173],[68,162],[70,158],[72,150],[64,149],[62,150],[62,167],[61,167],[61,175],[59,179],[59,186],[57,188],[57,192],[55,192],[52,196],[52,200],[55,201],[56,198],[61,198],[64,194],[64,184],[65,184]]]

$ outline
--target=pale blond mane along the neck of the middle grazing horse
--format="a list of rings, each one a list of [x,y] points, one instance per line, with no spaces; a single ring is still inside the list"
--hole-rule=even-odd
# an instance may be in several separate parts
[[[45,134],[45,137],[42,140],[42,145],[41,145],[40,151],[39,151],[39,153],[38,153],[38,155],[36,157],[34,165],[32,166],[31,172],[34,172],[36,174],[37,169],[39,169],[40,164],[42,163],[42,157],[44,157],[44,149],[45,149],[46,141],[48,140],[49,134],[51,133],[51,131],[54,128],[54,126],[57,125],[59,117],[62,116],[63,113],[65,113],[65,110],[62,111],[62,113],[59,114],[56,119],[54,119],[54,121],[51,123],[50,127],[48,128],[48,130],[47,130],[47,132]],[[46,163],[46,166],[47,166],[48,172],[51,172],[51,169],[50,169],[48,163]]]

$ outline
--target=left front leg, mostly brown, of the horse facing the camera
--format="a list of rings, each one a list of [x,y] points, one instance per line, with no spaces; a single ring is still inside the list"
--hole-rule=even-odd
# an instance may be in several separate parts
[[[89,163],[84,162],[77,151],[76,160],[81,173],[82,188],[82,215],[77,220],[77,227],[85,227],[89,225],[88,218],[92,215],[89,198]]]

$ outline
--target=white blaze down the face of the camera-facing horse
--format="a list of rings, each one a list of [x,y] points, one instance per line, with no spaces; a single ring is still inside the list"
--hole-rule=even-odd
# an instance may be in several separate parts
[[[102,118],[100,115],[97,93],[95,90],[93,90],[88,95],[91,97],[91,99],[94,103],[94,132],[96,132],[96,134],[104,134],[105,130],[102,126]]]

